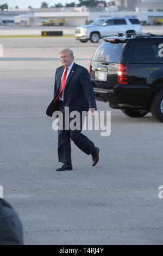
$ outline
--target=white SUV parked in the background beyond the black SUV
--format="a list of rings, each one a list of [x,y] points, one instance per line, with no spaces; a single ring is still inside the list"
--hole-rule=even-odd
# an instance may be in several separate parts
[[[98,42],[105,36],[117,35],[118,33],[141,33],[139,20],[133,17],[110,17],[101,18],[90,25],[76,27],[74,38],[80,42]]]

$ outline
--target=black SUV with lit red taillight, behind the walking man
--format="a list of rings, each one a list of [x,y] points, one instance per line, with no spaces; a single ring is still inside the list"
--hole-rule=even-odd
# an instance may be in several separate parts
[[[129,117],[148,112],[163,122],[163,35],[107,37],[90,64],[96,100]]]

